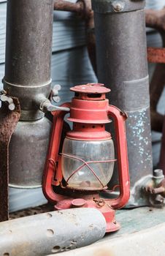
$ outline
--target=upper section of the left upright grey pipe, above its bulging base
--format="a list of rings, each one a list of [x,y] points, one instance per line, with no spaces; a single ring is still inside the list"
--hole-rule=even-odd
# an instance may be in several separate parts
[[[50,92],[53,0],[7,1],[4,89],[20,100],[21,119],[43,116],[38,94]]]

